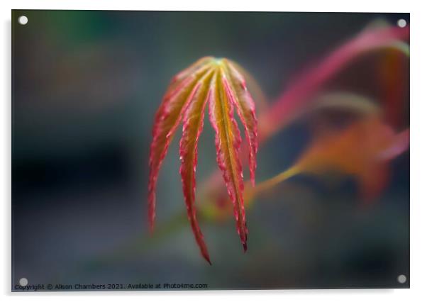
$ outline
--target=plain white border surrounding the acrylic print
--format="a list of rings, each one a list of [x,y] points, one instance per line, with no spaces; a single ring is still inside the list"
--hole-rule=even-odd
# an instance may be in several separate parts
[[[427,198],[423,189],[423,177],[426,177],[426,121],[427,121],[427,47],[426,14],[422,1],[0,1],[1,5],[1,265],[0,293],[6,298],[75,300],[87,301],[99,299],[116,301],[119,297],[135,301],[141,299],[173,299],[188,301],[195,298],[203,301],[218,301],[222,298],[258,301],[260,298],[272,300],[289,299],[301,301],[357,301],[361,299],[387,299],[387,301],[426,301],[424,291],[426,281],[426,216]],[[306,290],[306,291],[204,291],[204,292],[104,292],[104,293],[10,293],[11,284],[11,9],[103,9],[103,10],[188,10],[188,11],[356,11],[356,12],[404,12],[411,13],[411,289],[397,290]],[[424,185],[425,186],[425,185]]]

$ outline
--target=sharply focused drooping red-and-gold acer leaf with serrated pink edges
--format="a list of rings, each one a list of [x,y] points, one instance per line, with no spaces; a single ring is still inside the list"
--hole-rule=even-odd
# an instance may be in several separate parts
[[[177,126],[183,119],[182,138],[179,143],[182,189],[187,205],[187,215],[201,255],[211,263],[203,234],[196,220],[195,190],[197,142],[204,124],[204,111],[209,103],[209,119],[216,132],[217,162],[223,173],[228,196],[236,220],[236,228],[244,250],[247,248],[243,201],[243,170],[239,158],[240,131],[234,119],[234,108],[240,117],[248,141],[250,179],[255,184],[257,152],[257,120],[255,104],[246,88],[241,67],[227,59],[204,57],[177,74],[155,116],[153,142],[150,147],[150,177],[148,206],[150,228],[155,220],[155,188],[162,160],[165,158]]]

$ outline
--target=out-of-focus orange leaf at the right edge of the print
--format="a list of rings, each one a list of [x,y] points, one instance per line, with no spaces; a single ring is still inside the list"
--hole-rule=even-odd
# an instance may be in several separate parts
[[[335,171],[353,175],[360,182],[362,196],[370,199],[387,185],[387,161],[408,147],[409,130],[394,133],[379,119],[370,118],[314,140],[294,169],[302,173]]]

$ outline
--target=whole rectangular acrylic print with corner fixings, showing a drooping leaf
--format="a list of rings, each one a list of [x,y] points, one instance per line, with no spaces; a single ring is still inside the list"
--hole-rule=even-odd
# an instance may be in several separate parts
[[[409,21],[12,11],[12,290],[409,287]]]

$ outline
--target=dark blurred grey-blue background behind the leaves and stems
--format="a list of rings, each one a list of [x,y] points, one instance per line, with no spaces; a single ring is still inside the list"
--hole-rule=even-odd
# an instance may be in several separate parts
[[[25,26],[17,23],[23,15]],[[387,188],[369,207],[350,178],[284,182],[248,211],[245,254],[233,220],[201,223],[210,267],[187,220],[177,219],[185,206],[175,138],[160,172],[153,237],[147,222],[153,119],[174,74],[205,55],[229,57],[253,74],[268,104],[367,26],[401,18],[409,23],[398,13],[13,11],[13,284],[409,286],[409,152],[390,162]],[[360,57],[322,92],[381,99],[378,77],[392,72],[382,57]],[[396,130],[409,125],[408,66],[397,74],[404,85]],[[296,160],[311,118],[262,145],[257,181]],[[215,169],[205,121],[198,184]]]

